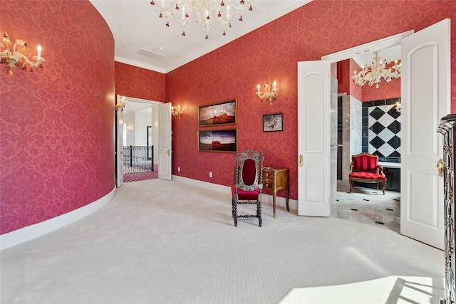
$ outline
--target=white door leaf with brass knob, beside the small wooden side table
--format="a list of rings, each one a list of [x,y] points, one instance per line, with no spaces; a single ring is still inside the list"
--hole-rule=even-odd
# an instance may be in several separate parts
[[[330,64],[298,63],[298,214],[330,214]]]

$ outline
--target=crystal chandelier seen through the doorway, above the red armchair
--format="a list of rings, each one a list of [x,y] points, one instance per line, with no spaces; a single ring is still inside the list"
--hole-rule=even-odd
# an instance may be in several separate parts
[[[368,83],[369,85],[373,85],[374,83],[375,88],[378,88],[378,83],[380,83],[381,78],[389,83],[393,78],[400,78],[400,65],[398,61],[395,61],[394,65],[391,68],[387,69],[386,65],[388,64],[386,60],[382,59],[378,56],[380,51],[373,52],[375,57],[373,58],[372,65],[363,65],[363,70],[361,72],[356,73],[351,78],[353,78],[353,82],[357,85],[364,85]]]

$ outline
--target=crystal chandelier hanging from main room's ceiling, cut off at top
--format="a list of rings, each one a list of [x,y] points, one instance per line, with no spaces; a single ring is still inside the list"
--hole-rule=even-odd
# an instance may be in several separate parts
[[[240,0],[239,6],[234,6],[230,0],[152,0],[150,4],[157,6],[160,10],[160,18],[165,19],[168,27],[170,19],[175,15],[182,28],[182,36],[185,36],[188,22],[195,11],[196,21],[204,27],[206,39],[208,39],[209,29],[214,25],[215,19],[219,19],[223,27],[223,35],[226,35],[225,31],[231,28],[231,21],[234,20],[234,11],[237,11],[240,16],[239,21],[242,21],[242,14],[252,11],[252,1]]]

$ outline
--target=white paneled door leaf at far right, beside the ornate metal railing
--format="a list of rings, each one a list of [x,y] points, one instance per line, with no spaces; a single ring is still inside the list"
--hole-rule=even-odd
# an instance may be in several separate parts
[[[400,233],[443,249],[440,118],[450,113],[450,19],[403,38]]]

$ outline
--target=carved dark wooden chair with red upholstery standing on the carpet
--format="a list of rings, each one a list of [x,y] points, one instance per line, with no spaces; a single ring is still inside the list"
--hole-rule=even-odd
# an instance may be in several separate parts
[[[238,218],[257,217],[261,227],[261,192],[263,189],[263,152],[245,150],[236,154],[232,204],[234,226]],[[238,204],[256,204],[257,214],[237,214]]]

